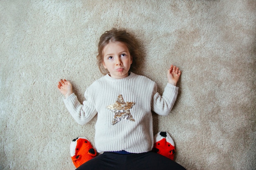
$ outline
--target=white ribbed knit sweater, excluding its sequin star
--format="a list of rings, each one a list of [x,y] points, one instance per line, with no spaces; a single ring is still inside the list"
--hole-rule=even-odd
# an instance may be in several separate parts
[[[153,148],[151,110],[159,115],[168,115],[177,93],[178,87],[167,83],[161,97],[155,82],[135,73],[122,79],[105,75],[88,87],[83,104],[74,93],[64,99],[64,103],[75,121],[81,125],[98,113],[95,124],[95,148],[98,152],[126,150],[142,153]],[[114,104],[119,95],[123,96],[124,102],[135,103],[130,108],[135,121],[122,119],[112,125],[114,113],[106,107]]]

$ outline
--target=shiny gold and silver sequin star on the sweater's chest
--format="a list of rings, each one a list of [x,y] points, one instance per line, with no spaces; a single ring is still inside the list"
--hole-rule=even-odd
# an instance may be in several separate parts
[[[117,97],[117,101],[114,104],[107,106],[108,110],[114,112],[112,125],[116,124],[122,119],[135,121],[135,119],[133,119],[132,115],[130,114],[130,109],[134,104],[134,102],[124,102],[123,96],[119,95]]]

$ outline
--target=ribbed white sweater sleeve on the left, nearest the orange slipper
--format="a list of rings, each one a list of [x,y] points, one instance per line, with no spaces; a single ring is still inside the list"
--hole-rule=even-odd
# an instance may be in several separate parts
[[[81,104],[74,93],[64,99],[64,103],[78,124],[86,124],[97,114],[90,100],[85,100]]]

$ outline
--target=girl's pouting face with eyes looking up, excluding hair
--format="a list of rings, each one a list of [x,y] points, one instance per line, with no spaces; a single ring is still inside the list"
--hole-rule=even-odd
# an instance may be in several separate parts
[[[110,42],[103,48],[102,64],[108,69],[111,77],[121,79],[128,76],[132,57],[124,43]]]

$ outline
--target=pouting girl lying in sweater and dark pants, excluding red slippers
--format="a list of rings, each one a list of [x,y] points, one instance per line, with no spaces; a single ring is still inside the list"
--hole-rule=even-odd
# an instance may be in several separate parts
[[[78,170],[184,170],[182,166],[155,152],[151,110],[168,115],[176,100],[176,84],[181,71],[171,65],[162,96],[156,83],[130,71],[139,54],[132,35],[112,29],[101,35],[98,66],[108,73],[85,91],[81,104],[65,79],[58,82],[64,103],[75,121],[86,124],[98,114],[95,124],[95,148],[103,154],[81,165]]]

